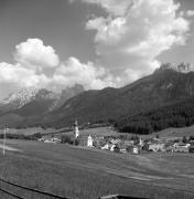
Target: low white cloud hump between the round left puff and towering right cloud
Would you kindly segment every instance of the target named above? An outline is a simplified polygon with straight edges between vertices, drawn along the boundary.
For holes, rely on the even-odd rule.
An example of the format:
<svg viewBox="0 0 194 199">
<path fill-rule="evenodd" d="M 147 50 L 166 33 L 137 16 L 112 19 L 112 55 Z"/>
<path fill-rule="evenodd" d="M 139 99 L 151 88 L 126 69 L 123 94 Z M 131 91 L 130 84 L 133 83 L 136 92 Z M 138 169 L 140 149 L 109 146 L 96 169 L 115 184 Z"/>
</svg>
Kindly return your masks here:
<svg viewBox="0 0 194 199">
<path fill-rule="evenodd" d="M 80 63 L 76 57 L 68 57 L 55 71 L 52 84 L 57 87 L 82 84 L 86 90 L 115 86 L 111 75 L 104 67 L 96 67 L 93 62 Z"/>
</svg>

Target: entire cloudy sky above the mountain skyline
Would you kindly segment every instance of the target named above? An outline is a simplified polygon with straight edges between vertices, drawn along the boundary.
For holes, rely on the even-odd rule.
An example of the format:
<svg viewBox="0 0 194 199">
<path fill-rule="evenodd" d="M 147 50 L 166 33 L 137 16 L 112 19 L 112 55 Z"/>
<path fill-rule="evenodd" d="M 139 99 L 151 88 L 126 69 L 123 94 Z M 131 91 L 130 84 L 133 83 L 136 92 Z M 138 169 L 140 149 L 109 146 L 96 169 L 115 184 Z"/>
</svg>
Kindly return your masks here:
<svg viewBox="0 0 194 199">
<path fill-rule="evenodd" d="M 0 0 L 0 100 L 24 87 L 120 87 L 194 63 L 194 0 Z"/>
</svg>

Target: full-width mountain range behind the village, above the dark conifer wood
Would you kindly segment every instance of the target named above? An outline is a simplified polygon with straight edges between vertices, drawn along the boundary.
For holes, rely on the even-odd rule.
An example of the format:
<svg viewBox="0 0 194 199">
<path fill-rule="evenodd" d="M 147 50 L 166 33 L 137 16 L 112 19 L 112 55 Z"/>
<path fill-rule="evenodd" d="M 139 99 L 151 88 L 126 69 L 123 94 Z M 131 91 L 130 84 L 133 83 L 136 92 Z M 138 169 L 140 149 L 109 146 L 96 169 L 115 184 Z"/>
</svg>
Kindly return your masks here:
<svg viewBox="0 0 194 199">
<path fill-rule="evenodd" d="M 75 85 L 61 95 L 47 90 L 32 90 L 29 94 L 23 90 L 1 102 L 0 124 L 65 126 L 75 118 L 79 123 L 110 122 L 171 106 L 194 97 L 193 69 L 191 64 L 166 63 L 120 88 L 84 92 Z"/>
</svg>

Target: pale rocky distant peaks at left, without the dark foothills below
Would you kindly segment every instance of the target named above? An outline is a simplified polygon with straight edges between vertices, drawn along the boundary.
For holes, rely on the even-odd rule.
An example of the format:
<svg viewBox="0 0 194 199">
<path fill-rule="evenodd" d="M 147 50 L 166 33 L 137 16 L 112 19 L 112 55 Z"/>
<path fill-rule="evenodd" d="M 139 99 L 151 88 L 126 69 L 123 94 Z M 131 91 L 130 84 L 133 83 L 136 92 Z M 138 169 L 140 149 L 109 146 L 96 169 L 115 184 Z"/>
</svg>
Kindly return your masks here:
<svg viewBox="0 0 194 199">
<path fill-rule="evenodd" d="M 42 115 L 58 108 L 65 101 L 83 91 L 82 85 L 67 87 L 61 94 L 46 88 L 23 88 L 0 102 L 0 114 L 15 114 L 21 117 Z"/>
</svg>

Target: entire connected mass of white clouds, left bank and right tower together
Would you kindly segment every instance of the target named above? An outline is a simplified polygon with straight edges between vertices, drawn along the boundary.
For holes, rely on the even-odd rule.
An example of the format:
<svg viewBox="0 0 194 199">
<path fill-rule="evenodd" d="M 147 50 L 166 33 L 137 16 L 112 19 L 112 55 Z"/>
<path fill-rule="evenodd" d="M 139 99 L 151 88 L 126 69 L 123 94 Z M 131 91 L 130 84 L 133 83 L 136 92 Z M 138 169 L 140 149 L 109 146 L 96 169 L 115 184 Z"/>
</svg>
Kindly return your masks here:
<svg viewBox="0 0 194 199">
<path fill-rule="evenodd" d="M 193 11 L 179 12 L 180 3 L 173 0 L 80 1 L 107 13 L 86 22 L 86 30 L 95 31 L 100 65 L 73 56 L 61 62 L 52 46 L 28 39 L 15 46 L 14 64 L 0 63 L 1 94 L 8 87 L 9 92 L 26 86 L 60 91 L 76 83 L 86 90 L 121 86 L 151 73 L 159 67 L 162 52 L 186 42 L 190 22 L 185 18 Z"/>
</svg>

